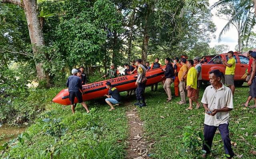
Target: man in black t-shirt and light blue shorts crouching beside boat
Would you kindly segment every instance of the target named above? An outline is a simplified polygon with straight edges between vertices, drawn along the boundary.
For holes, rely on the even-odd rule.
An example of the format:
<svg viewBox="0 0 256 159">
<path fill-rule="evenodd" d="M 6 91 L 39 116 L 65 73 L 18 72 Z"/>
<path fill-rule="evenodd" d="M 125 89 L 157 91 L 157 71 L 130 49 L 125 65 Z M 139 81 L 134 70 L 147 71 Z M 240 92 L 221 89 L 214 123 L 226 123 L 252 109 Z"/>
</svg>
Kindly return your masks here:
<svg viewBox="0 0 256 159">
<path fill-rule="evenodd" d="M 116 87 L 112 87 L 110 82 L 106 82 L 106 88 L 109 90 L 108 90 L 108 95 L 107 94 L 104 95 L 108 97 L 105 99 L 105 101 L 111 107 L 110 110 L 108 111 L 112 111 L 115 109 L 113 104 L 119 106 L 119 104 L 121 103 L 121 96 L 119 94 L 118 89 Z"/>
</svg>

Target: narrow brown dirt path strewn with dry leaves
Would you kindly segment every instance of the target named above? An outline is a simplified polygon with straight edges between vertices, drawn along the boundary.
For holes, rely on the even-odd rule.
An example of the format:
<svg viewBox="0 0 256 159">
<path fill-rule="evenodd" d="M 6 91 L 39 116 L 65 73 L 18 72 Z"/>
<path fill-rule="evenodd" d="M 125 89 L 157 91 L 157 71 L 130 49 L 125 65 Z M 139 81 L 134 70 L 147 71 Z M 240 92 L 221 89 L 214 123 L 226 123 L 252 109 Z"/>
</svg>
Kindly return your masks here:
<svg viewBox="0 0 256 159">
<path fill-rule="evenodd" d="M 127 149 L 126 159 L 148 159 L 148 143 L 147 138 L 142 131 L 143 122 L 137 114 L 136 106 L 129 105 L 126 112 L 128 124 L 130 126 L 130 136 L 128 138 L 129 147 Z M 150 143 L 150 146 L 152 143 Z"/>
</svg>

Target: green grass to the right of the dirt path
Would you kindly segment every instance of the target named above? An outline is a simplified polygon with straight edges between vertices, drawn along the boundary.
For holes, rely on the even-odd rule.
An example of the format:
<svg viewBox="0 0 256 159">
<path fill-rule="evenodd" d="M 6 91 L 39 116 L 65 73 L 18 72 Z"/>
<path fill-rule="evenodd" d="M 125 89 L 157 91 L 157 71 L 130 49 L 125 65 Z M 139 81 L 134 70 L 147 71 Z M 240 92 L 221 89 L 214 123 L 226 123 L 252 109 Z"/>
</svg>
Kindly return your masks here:
<svg viewBox="0 0 256 159">
<path fill-rule="evenodd" d="M 204 89 L 200 90 L 200 99 Z M 179 97 L 166 104 L 167 95 L 162 88 L 158 88 L 158 92 L 149 92 L 149 90 L 147 89 L 146 93 L 147 107 L 139 109 L 139 115 L 145 123 L 146 136 L 150 137 L 149 140 L 156 141 L 151 150 L 152 158 L 190 158 L 189 153 L 186 156 L 180 153 L 180 149 L 183 148 L 182 134 L 185 132 L 185 126 L 193 126 L 203 131 L 204 108 L 187 111 L 185 109 L 188 104 L 181 106 L 176 104 L 180 100 Z M 233 151 L 239 155 L 243 154 L 244 158 L 253 158 L 255 156 L 249 151 L 256 147 L 256 110 L 241 106 L 248 97 L 248 91 L 248 86 L 236 88 L 234 109 L 230 113 L 229 130 L 231 141 L 237 143 L 236 147 L 233 146 Z M 173 88 L 172 93 L 174 93 Z M 254 103 L 251 102 L 251 104 Z M 160 116 L 164 118 L 160 118 Z M 213 154 L 216 157 L 222 157 L 224 154 L 223 142 L 220 140 L 220 133 L 217 133 L 212 146 Z"/>
</svg>

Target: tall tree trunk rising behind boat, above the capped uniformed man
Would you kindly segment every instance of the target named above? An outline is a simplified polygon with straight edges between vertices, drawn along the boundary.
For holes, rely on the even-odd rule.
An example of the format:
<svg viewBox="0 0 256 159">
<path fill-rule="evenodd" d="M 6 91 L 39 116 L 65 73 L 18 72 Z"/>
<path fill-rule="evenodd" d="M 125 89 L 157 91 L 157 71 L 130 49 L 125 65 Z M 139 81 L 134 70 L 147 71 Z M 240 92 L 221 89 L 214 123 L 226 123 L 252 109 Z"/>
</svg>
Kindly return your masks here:
<svg viewBox="0 0 256 159">
<path fill-rule="evenodd" d="M 141 55 L 143 64 L 146 64 L 148 59 L 148 40 L 149 40 L 148 31 L 150 26 L 150 16 L 154 12 L 154 4 L 146 4 L 146 7 L 147 7 L 147 12 L 144 19 L 145 26 L 144 26 L 144 33 L 143 33 L 142 55 Z"/>
</svg>

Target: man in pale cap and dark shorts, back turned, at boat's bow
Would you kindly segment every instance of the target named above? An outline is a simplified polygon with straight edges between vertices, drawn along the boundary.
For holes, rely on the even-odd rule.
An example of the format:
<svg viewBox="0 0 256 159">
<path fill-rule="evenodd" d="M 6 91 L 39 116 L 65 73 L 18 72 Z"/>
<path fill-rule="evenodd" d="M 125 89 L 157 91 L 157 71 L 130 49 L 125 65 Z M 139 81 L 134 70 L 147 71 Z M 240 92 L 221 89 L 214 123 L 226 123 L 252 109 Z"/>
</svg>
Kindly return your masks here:
<svg viewBox="0 0 256 159">
<path fill-rule="evenodd" d="M 82 80 L 80 79 L 80 77 L 77 76 L 77 72 L 78 72 L 77 69 L 72 69 L 71 71 L 72 75 L 68 77 L 68 80 L 66 82 L 66 86 L 68 87 L 68 92 L 69 92 L 68 97 L 71 103 L 71 110 L 72 110 L 72 113 L 74 114 L 75 113 L 74 100 L 76 97 L 78 100 L 78 103 L 81 103 L 82 106 L 86 109 L 86 112 L 89 113 L 90 111 L 88 110 L 87 105 L 83 102 L 82 93 L 81 93 L 81 92 L 84 92 L 82 88 Z"/>
</svg>

